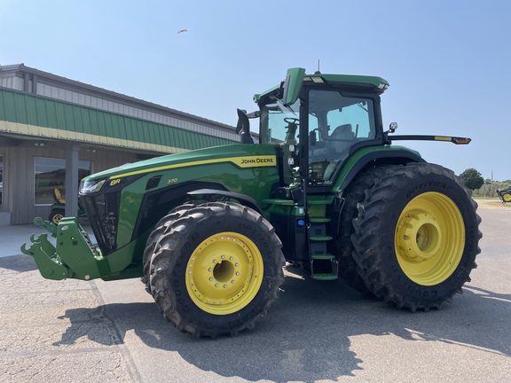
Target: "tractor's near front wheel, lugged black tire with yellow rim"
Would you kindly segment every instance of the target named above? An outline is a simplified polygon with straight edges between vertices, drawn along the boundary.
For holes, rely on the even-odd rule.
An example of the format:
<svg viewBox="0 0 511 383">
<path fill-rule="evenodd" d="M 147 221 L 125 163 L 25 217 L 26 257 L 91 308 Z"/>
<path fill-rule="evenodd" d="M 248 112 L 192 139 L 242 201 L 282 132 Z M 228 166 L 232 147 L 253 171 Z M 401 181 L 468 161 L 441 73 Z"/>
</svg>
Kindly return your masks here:
<svg viewBox="0 0 511 383">
<path fill-rule="evenodd" d="M 284 281 L 282 245 L 271 224 L 232 202 L 192 207 L 169 221 L 149 268 L 163 316 L 195 337 L 254 328 Z"/>
</svg>

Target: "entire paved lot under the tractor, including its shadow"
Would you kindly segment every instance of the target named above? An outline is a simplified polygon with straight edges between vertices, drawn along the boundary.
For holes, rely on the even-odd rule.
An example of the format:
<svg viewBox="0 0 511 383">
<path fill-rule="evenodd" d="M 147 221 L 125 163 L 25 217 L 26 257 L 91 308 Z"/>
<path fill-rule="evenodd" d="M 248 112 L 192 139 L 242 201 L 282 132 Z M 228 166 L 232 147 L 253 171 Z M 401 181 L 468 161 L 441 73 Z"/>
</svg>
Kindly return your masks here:
<svg viewBox="0 0 511 383">
<path fill-rule="evenodd" d="M 509 382 L 511 206 L 478 213 L 478 268 L 443 309 L 392 309 L 288 268 L 269 317 L 217 340 L 177 332 L 138 279 L 43 279 L 16 250 L 41 230 L 0 226 L 0 382 Z"/>
</svg>

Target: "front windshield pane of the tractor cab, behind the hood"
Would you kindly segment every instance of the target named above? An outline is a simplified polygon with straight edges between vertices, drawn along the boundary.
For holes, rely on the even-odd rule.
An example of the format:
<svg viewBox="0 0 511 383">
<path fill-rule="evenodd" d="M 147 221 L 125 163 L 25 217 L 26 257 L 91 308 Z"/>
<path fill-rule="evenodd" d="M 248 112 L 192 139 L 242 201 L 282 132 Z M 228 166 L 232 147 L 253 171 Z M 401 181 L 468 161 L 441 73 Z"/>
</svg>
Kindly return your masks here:
<svg viewBox="0 0 511 383">
<path fill-rule="evenodd" d="M 261 144 L 279 145 L 286 140 L 288 122 L 290 119 L 300 119 L 300 102 L 293 106 L 270 104 L 261 107 L 261 130 L 259 140 Z M 284 121 L 287 119 L 287 121 Z"/>
</svg>

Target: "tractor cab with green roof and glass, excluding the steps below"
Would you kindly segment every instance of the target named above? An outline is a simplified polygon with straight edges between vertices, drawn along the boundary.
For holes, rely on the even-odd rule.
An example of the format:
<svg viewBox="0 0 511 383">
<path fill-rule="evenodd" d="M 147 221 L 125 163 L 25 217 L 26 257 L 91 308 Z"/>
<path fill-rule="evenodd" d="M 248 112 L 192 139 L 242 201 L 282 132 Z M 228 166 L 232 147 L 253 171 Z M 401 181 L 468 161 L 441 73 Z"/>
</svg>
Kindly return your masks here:
<svg viewBox="0 0 511 383">
<path fill-rule="evenodd" d="M 381 145 L 380 77 L 287 71 L 278 87 L 255 95 L 260 144 L 275 145 L 287 186 L 332 187 L 352 152 Z"/>
</svg>

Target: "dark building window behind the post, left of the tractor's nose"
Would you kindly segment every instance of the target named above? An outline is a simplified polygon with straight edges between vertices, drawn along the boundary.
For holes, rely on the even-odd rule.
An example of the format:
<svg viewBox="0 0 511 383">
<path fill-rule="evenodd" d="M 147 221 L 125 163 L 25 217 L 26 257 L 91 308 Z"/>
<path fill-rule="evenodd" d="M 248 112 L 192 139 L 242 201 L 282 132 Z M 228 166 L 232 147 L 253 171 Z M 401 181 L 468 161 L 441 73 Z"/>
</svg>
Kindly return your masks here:
<svg viewBox="0 0 511 383">
<path fill-rule="evenodd" d="M 78 162 L 78 179 L 90 175 L 90 161 Z M 54 190 L 66 193 L 66 160 L 35 157 L 35 205 L 54 202 Z"/>
</svg>

